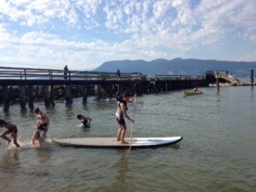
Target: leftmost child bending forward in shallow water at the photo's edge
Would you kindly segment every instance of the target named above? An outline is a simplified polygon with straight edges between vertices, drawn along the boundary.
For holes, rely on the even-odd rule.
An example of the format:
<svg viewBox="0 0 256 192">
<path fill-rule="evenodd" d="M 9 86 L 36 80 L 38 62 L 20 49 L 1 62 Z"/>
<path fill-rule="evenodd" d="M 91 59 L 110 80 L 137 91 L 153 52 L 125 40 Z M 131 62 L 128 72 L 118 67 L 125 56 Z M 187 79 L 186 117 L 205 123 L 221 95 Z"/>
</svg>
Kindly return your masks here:
<svg viewBox="0 0 256 192">
<path fill-rule="evenodd" d="M 5 139 L 8 142 L 7 147 L 9 147 L 9 144 L 12 142 L 12 140 L 9 137 L 7 137 L 7 135 L 11 134 L 11 137 L 14 138 L 14 144 L 16 145 L 17 148 L 20 148 L 20 144 L 17 143 L 17 136 L 18 136 L 17 126 L 13 124 L 9 124 L 5 122 L 5 120 L 0 119 L 0 127 L 4 127 L 7 129 L 6 131 L 3 131 L 0 133 L 0 137 Z"/>
</svg>

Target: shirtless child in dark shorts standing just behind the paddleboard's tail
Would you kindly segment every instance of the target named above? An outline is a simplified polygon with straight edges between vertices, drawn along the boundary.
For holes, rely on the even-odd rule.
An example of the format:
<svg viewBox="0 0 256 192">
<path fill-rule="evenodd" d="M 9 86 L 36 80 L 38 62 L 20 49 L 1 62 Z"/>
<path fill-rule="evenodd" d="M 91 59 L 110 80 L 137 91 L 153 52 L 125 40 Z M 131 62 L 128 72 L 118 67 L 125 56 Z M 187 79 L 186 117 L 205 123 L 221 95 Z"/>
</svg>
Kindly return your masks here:
<svg viewBox="0 0 256 192">
<path fill-rule="evenodd" d="M 49 118 L 45 113 L 41 112 L 39 108 L 35 108 L 34 113 L 38 118 L 35 131 L 38 131 L 39 133 L 42 131 L 42 137 L 46 139 L 46 133 L 49 129 Z"/>
</svg>

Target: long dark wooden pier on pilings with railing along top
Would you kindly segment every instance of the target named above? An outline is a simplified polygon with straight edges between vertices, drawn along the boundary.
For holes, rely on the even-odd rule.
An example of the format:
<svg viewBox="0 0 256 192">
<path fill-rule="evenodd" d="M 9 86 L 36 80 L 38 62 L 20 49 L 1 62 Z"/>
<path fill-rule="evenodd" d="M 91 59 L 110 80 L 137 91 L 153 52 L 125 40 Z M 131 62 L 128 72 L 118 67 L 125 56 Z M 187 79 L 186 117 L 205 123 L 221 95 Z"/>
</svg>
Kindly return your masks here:
<svg viewBox="0 0 256 192">
<path fill-rule="evenodd" d="M 73 97 L 81 96 L 87 102 L 88 96 L 96 99 L 113 98 L 123 91 L 137 95 L 162 91 L 191 89 L 195 86 L 208 86 L 214 77 L 189 75 L 154 75 L 141 73 L 99 73 L 89 71 L 69 71 L 64 79 L 62 70 L 40 68 L 0 67 L 0 104 L 9 108 L 13 101 L 26 108 L 38 99 L 46 105 L 56 99 L 72 102 Z"/>
</svg>

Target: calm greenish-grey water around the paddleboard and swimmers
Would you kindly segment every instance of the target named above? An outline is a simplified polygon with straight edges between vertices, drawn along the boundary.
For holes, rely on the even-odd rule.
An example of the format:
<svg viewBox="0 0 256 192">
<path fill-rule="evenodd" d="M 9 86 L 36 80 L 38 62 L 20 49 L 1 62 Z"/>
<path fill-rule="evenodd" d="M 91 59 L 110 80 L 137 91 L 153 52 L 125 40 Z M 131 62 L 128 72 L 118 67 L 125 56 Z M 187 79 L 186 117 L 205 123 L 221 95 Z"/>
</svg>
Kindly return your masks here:
<svg viewBox="0 0 256 192">
<path fill-rule="evenodd" d="M 54 143 L 33 148 L 37 119 L 32 109 L 20 112 L 14 105 L 4 113 L 1 107 L 0 118 L 18 125 L 22 147 L 6 149 L 1 139 L 0 191 L 254 191 L 256 88 L 226 87 L 219 95 L 216 88 L 203 91 L 186 98 L 183 91 L 138 97 L 137 106 L 129 106 L 136 119 L 134 137 L 183 136 L 183 141 L 131 151 Z M 49 137 L 116 136 L 115 101 L 81 103 L 34 107 L 49 114 Z M 78 113 L 93 119 L 90 131 L 77 127 Z"/>
</svg>

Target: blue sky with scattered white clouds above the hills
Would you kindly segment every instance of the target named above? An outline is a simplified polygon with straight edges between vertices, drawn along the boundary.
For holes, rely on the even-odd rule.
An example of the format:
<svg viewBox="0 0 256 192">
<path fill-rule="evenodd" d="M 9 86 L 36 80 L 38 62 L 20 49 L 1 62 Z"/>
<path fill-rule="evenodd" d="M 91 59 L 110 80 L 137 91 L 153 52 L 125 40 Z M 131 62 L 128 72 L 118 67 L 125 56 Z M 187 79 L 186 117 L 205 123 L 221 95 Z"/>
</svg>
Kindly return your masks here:
<svg viewBox="0 0 256 192">
<path fill-rule="evenodd" d="M 255 0 L 0 0 L 0 67 L 256 61 Z"/>
</svg>

